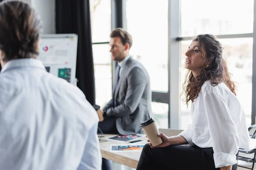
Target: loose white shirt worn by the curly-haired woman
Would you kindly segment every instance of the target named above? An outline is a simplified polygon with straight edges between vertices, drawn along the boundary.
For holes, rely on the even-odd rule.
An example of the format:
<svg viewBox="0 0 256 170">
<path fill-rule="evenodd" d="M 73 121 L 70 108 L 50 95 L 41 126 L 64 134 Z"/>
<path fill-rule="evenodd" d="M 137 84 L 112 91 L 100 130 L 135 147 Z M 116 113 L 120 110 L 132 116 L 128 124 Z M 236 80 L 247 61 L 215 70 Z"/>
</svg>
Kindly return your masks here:
<svg viewBox="0 0 256 170">
<path fill-rule="evenodd" d="M 216 168 L 236 164 L 239 147 L 250 150 L 244 111 L 224 83 L 204 83 L 192 102 L 191 117 L 192 124 L 180 135 L 189 144 L 212 147 Z"/>
</svg>

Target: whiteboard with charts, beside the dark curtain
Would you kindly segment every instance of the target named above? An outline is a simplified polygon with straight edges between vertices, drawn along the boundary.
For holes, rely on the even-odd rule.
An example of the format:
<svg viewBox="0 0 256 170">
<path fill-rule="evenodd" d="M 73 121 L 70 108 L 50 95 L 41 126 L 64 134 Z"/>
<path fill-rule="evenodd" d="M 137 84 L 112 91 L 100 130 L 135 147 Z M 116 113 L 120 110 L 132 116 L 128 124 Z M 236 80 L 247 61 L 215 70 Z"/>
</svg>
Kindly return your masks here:
<svg viewBox="0 0 256 170">
<path fill-rule="evenodd" d="M 76 85 L 76 34 L 44 34 L 41 37 L 38 59 L 46 70 Z"/>
</svg>

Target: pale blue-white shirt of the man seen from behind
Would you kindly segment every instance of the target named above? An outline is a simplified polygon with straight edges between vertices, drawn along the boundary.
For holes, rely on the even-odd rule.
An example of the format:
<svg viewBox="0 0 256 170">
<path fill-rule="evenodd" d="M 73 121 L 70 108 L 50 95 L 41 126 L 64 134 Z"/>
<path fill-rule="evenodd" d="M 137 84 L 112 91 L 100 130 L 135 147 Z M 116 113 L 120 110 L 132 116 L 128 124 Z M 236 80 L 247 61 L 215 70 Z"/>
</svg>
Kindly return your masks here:
<svg viewBox="0 0 256 170">
<path fill-rule="evenodd" d="M 99 118 L 76 86 L 38 59 L 0 72 L 1 170 L 100 170 Z"/>
</svg>

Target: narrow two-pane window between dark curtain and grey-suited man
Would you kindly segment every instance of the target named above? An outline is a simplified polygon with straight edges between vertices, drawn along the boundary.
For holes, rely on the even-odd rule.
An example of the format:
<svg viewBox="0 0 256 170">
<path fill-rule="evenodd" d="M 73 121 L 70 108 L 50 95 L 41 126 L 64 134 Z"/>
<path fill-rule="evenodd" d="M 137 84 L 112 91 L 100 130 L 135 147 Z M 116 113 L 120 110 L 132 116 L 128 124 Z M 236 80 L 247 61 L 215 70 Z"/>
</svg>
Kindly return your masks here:
<svg viewBox="0 0 256 170">
<path fill-rule="evenodd" d="M 111 0 L 90 0 L 90 15 L 96 104 L 102 108 L 112 98 L 112 66 L 108 45 L 111 34 Z"/>
</svg>

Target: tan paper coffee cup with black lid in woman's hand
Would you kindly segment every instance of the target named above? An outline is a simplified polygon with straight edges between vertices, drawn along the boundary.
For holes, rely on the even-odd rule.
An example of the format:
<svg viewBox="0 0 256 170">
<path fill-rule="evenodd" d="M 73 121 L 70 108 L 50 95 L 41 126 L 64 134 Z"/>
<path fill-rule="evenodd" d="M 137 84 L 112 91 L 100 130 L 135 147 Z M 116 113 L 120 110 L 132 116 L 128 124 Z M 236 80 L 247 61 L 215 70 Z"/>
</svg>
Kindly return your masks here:
<svg viewBox="0 0 256 170">
<path fill-rule="evenodd" d="M 162 139 L 157 136 L 159 131 L 157 129 L 155 119 L 149 118 L 148 120 L 142 122 L 140 124 L 140 127 L 142 127 L 142 129 L 144 130 L 152 146 L 157 146 L 158 144 L 163 143 Z"/>
</svg>

